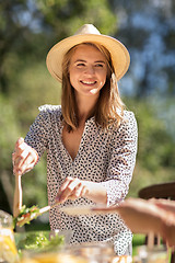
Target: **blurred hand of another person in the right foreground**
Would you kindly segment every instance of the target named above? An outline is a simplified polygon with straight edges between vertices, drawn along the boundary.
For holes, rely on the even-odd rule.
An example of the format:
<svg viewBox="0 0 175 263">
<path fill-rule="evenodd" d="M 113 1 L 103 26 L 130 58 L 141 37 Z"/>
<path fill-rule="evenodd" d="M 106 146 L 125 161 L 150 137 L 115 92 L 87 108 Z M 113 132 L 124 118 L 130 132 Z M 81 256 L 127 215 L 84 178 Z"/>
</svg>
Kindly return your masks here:
<svg viewBox="0 0 175 263">
<path fill-rule="evenodd" d="M 118 214 L 138 233 L 161 235 L 170 247 L 175 245 L 174 201 L 128 198 L 118 206 Z"/>
</svg>

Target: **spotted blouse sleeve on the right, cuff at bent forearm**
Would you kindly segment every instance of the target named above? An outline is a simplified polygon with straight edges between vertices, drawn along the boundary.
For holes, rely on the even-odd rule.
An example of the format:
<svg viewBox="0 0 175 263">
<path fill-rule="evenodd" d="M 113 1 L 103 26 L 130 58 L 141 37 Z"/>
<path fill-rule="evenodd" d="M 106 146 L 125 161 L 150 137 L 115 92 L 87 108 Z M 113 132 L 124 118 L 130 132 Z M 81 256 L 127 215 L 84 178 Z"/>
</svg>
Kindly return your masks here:
<svg viewBox="0 0 175 263">
<path fill-rule="evenodd" d="M 126 112 L 113 137 L 113 152 L 108 165 L 107 178 L 102 185 L 107 192 L 107 205 L 121 202 L 129 190 L 129 183 L 136 164 L 138 128 L 132 112 Z"/>
</svg>

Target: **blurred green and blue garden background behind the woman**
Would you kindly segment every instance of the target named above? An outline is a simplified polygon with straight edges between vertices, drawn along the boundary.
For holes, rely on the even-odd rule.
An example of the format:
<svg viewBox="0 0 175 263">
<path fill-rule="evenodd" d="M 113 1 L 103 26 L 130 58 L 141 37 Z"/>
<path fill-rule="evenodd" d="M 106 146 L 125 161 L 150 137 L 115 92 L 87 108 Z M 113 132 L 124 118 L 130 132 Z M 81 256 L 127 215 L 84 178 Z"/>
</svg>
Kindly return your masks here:
<svg viewBox="0 0 175 263">
<path fill-rule="evenodd" d="M 0 209 L 10 214 L 14 144 L 25 137 L 39 105 L 60 104 L 60 85 L 46 68 L 47 53 L 84 23 L 121 41 L 131 56 L 118 83 L 139 128 L 128 196 L 175 181 L 175 1 L 0 0 Z M 27 206 L 47 205 L 45 160 L 22 178 Z"/>
</svg>

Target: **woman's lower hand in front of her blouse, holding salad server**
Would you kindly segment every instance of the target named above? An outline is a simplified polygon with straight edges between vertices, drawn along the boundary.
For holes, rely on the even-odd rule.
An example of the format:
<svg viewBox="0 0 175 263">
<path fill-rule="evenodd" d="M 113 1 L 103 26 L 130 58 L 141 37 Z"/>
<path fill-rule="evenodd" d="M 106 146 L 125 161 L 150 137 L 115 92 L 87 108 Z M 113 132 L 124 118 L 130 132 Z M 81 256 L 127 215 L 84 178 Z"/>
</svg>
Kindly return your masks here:
<svg viewBox="0 0 175 263">
<path fill-rule="evenodd" d="M 63 203 L 67 199 L 77 199 L 83 197 L 88 192 L 84 181 L 68 176 L 58 191 L 56 202 Z"/>
</svg>

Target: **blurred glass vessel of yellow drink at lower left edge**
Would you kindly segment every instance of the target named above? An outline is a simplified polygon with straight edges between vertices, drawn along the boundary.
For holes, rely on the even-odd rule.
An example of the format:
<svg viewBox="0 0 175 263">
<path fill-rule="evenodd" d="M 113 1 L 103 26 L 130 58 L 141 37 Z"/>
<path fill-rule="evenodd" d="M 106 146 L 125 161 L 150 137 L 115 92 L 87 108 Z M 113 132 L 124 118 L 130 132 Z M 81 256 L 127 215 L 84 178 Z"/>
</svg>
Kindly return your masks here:
<svg viewBox="0 0 175 263">
<path fill-rule="evenodd" d="M 0 210 L 0 262 L 19 262 L 13 235 L 13 218 L 3 210 Z"/>
</svg>

